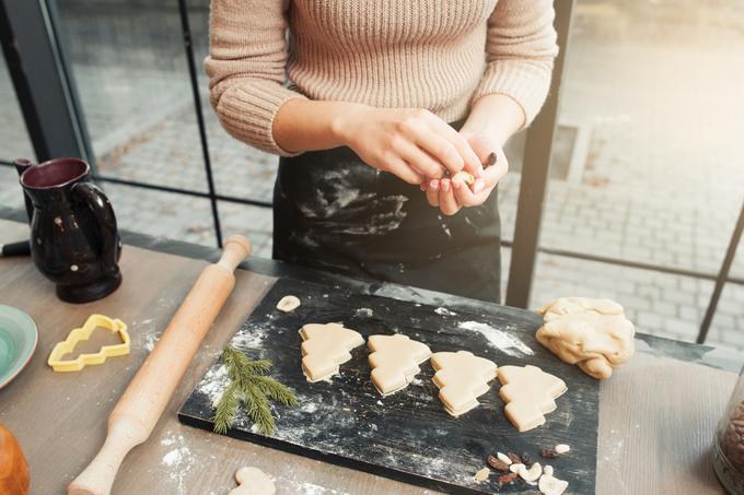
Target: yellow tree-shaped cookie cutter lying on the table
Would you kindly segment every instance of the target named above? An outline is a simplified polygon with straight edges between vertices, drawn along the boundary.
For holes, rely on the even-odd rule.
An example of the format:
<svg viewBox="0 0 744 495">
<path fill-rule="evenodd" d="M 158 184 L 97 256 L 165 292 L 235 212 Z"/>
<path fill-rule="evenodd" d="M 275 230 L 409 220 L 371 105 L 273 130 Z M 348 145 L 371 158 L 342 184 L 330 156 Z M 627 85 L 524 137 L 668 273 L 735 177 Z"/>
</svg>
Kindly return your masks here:
<svg viewBox="0 0 744 495">
<path fill-rule="evenodd" d="M 65 354 L 71 353 L 78 342 L 91 338 L 93 331 L 103 327 L 118 333 L 121 338 L 120 344 L 104 345 L 94 354 L 80 354 L 75 360 L 61 360 Z M 85 366 L 93 364 L 102 364 L 106 357 L 124 356 L 129 354 L 129 333 L 127 333 L 127 325 L 120 319 L 112 319 L 103 315 L 91 315 L 85 320 L 82 328 L 75 328 L 61 342 L 57 342 L 55 349 L 49 354 L 47 364 L 51 366 L 55 372 L 80 372 Z"/>
</svg>

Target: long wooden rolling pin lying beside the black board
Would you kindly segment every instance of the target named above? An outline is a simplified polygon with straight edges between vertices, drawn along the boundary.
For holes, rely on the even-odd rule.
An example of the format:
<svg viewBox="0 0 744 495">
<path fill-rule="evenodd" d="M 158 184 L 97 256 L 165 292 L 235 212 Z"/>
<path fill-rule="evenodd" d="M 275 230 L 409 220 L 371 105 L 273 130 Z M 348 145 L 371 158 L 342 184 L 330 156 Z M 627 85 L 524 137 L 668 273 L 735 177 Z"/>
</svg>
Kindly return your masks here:
<svg viewBox="0 0 744 495">
<path fill-rule="evenodd" d="M 103 447 L 67 488 L 68 495 L 106 495 L 125 456 L 148 439 L 186 368 L 235 285 L 235 268 L 251 254 L 230 236 L 220 261 L 204 269 L 181 307 L 108 415 Z"/>
</svg>

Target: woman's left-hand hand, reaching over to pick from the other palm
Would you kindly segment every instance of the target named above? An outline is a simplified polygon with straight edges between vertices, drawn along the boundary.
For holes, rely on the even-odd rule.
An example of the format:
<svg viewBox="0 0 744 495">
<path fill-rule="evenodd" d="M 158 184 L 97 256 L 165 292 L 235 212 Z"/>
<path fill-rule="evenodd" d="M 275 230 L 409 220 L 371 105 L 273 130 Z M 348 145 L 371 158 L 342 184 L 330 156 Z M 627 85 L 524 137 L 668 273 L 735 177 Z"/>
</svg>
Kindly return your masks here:
<svg viewBox="0 0 744 495">
<path fill-rule="evenodd" d="M 334 119 L 333 132 L 368 165 L 420 185 L 466 170 L 484 174 L 470 143 L 429 110 L 353 105 Z"/>
</svg>

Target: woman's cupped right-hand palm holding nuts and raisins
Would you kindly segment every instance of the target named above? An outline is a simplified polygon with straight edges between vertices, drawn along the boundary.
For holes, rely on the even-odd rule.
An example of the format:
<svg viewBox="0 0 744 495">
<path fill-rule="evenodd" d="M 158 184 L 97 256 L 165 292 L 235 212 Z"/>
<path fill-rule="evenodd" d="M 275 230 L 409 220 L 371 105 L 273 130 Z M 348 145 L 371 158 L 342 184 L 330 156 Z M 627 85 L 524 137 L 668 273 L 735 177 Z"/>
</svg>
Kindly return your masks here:
<svg viewBox="0 0 744 495">
<path fill-rule="evenodd" d="M 496 163 L 486 167 L 483 176 L 476 177 L 470 186 L 462 180 L 450 178 L 430 179 L 421 185 L 421 189 L 427 192 L 429 204 L 439 207 L 445 215 L 454 215 L 463 207 L 483 204 L 499 180 L 509 172 L 509 162 L 507 155 L 503 154 L 500 140 L 486 134 L 463 134 L 463 138 L 481 163 L 488 161 L 490 153 L 496 154 Z"/>
</svg>

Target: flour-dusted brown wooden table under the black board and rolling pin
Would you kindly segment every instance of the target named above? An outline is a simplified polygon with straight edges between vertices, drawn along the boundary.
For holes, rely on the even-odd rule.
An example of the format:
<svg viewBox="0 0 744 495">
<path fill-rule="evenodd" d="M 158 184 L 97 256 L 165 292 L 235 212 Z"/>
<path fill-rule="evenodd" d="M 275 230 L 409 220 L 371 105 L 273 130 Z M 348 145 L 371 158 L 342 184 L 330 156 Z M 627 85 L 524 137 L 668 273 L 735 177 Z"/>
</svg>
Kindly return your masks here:
<svg viewBox="0 0 744 495">
<path fill-rule="evenodd" d="M 9 216 L 0 210 L 0 215 L 3 213 Z M 16 240 L 25 233 L 25 225 L 0 220 L 0 243 Z M 39 329 L 38 350 L 28 367 L 0 390 L 0 422 L 16 435 L 25 451 L 32 494 L 65 493 L 70 480 L 97 452 L 106 417 L 121 391 L 205 267 L 205 259 L 218 255 L 212 249 L 139 235 L 125 233 L 124 238 L 128 244 L 121 259 L 124 284 L 107 298 L 85 305 L 57 299 L 51 284 L 28 258 L 0 259 L 0 304 L 28 313 Z M 282 494 L 431 493 L 178 423 L 178 406 L 275 282 L 271 273 L 328 276 L 272 261 L 251 260 L 245 268 L 236 273 L 235 291 L 152 436 L 124 461 L 114 493 L 224 494 L 234 486 L 233 474 L 242 465 L 270 473 Z M 398 286 L 379 292 L 423 302 L 437 297 Z M 479 305 L 461 298 L 447 300 Z M 131 354 L 80 373 L 53 373 L 46 365 L 51 347 L 93 313 L 129 325 Z M 648 335 L 639 335 L 638 351 L 601 387 L 597 493 L 723 493 L 710 465 L 709 449 L 743 356 Z"/>
</svg>

